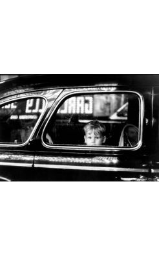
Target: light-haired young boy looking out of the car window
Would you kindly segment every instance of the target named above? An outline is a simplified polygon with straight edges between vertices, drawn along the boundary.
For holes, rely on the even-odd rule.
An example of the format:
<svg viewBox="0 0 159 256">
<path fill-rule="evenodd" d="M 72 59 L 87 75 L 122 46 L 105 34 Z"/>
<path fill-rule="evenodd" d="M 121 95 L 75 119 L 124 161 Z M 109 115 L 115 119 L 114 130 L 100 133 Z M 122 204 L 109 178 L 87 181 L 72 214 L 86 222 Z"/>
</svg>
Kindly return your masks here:
<svg viewBox="0 0 159 256">
<path fill-rule="evenodd" d="M 87 146 L 101 146 L 106 141 L 105 126 L 98 121 L 88 122 L 84 126 L 85 144 Z"/>
</svg>

